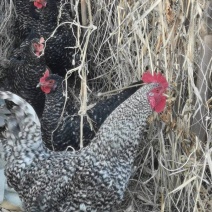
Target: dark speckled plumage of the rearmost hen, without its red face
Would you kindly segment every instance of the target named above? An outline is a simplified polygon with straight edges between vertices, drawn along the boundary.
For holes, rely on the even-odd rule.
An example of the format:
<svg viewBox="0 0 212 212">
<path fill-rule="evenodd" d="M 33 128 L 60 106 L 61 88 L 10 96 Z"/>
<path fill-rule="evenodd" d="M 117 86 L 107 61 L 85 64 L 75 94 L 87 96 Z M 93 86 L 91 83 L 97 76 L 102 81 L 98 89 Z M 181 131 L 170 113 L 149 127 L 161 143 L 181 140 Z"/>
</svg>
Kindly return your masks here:
<svg viewBox="0 0 212 212">
<path fill-rule="evenodd" d="M 34 0 L 36 2 L 36 0 Z M 46 40 L 45 59 L 52 72 L 61 76 L 79 61 L 76 48 L 77 27 L 70 12 L 70 2 L 45 0 L 46 6 L 37 9 L 34 2 L 16 0 L 17 19 L 15 25 L 16 47 L 32 32 Z M 61 5 L 63 5 L 61 7 Z M 66 24 L 64 24 L 66 22 Z M 61 24 L 61 26 L 59 26 Z M 56 30 L 57 29 L 57 30 Z M 55 30 L 55 32 L 54 32 Z M 52 35 L 52 33 L 54 34 Z"/>
</svg>

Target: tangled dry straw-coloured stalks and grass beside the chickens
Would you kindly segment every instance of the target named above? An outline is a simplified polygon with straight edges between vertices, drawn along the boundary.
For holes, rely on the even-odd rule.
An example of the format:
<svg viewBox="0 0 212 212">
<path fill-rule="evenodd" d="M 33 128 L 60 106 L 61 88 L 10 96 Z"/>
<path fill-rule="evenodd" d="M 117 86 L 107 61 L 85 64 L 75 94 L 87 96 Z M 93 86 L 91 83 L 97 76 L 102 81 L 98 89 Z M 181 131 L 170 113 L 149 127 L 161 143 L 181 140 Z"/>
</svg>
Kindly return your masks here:
<svg viewBox="0 0 212 212">
<path fill-rule="evenodd" d="M 89 92 L 110 95 L 146 69 L 163 71 L 172 88 L 166 111 L 149 119 L 135 173 L 115 211 L 212 211 L 212 4 L 81 2 L 87 16 L 84 26 L 75 24 L 83 35 L 82 64 L 69 74 L 78 71 L 82 77 L 82 108 Z M 0 4 L 0 54 L 8 56 L 15 13 L 12 0 Z M 88 71 L 94 78 L 87 82 Z"/>
</svg>

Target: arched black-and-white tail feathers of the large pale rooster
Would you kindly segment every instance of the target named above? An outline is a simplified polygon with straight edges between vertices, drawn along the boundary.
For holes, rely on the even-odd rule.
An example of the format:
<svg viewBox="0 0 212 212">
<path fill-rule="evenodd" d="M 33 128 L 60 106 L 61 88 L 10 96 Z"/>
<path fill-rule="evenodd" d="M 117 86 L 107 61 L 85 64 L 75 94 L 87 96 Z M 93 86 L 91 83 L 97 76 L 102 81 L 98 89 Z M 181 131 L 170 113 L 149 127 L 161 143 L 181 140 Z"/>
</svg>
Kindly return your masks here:
<svg viewBox="0 0 212 212">
<path fill-rule="evenodd" d="M 7 172 L 11 171 L 10 174 L 16 179 L 13 181 L 17 184 L 22 171 L 31 165 L 34 158 L 45 158 L 48 151 L 43 147 L 40 122 L 32 106 L 11 92 L 0 91 L 0 98 L 17 104 L 11 109 L 12 114 L 7 119 L 7 140 L 3 142 Z M 18 173 L 15 172 L 16 167 Z"/>
</svg>

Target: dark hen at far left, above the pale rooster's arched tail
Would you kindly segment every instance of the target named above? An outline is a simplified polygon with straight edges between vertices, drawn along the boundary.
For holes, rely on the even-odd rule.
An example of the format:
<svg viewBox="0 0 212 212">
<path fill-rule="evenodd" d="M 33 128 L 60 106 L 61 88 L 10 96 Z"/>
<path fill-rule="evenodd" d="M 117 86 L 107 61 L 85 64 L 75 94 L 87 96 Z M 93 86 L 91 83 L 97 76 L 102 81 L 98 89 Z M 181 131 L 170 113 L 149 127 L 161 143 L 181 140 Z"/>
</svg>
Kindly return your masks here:
<svg viewBox="0 0 212 212">
<path fill-rule="evenodd" d="M 8 67 L 4 70 L 5 90 L 18 94 L 29 102 L 40 117 L 45 95 L 36 88 L 37 82 L 46 70 L 43 52 L 44 39 L 31 33 L 21 47 L 13 53 Z"/>
</svg>

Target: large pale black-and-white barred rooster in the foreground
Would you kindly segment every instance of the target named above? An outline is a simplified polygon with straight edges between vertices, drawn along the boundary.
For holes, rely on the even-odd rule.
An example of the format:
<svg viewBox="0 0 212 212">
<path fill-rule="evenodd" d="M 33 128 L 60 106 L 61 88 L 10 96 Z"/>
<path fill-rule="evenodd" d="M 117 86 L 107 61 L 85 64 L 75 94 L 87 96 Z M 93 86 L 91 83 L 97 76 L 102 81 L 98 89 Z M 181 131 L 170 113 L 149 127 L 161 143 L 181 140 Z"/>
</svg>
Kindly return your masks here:
<svg viewBox="0 0 212 212">
<path fill-rule="evenodd" d="M 15 94 L 0 92 L 0 98 L 17 105 L 7 120 L 3 147 L 8 183 L 26 212 L 111 211 L 122 200 L 147 118 L 166 104 L 166 79 L 145 73 L 143 81 L 147 85 L 110 114 L 90 145 L 75 152 L 47 150 L 33 108 Z"/>
</svg>

